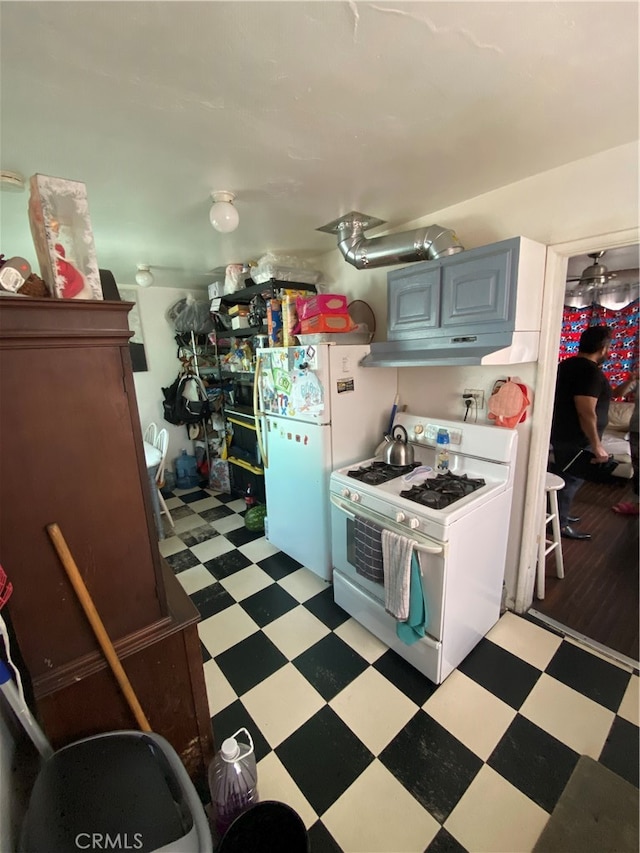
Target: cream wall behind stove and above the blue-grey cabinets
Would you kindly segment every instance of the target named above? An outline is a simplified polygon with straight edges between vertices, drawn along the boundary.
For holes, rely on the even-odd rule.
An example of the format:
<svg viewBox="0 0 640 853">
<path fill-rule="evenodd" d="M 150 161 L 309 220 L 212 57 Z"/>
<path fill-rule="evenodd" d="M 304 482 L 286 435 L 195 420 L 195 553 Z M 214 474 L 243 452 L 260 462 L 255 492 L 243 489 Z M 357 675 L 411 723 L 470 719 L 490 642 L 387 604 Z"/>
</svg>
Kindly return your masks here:
<svg viewBox="0 0 640 853">
<path fill-rule="evenodd" d="M 551 245 L 635 228 L 638 225 L 638 154 L 637 143 L 623 145 L 434 211 L 394 230 L 409 231 L 437 224 L 453 228 L 465 248 L 471 249 L 518 235 Z M 366 212 L 384 216 L 384 208 Z M 350 301 L 364 299 L 371 305 L 377 321 L 375 340 L 384 340 L 386 277 L 395 267 L 356 270 L 337 249 L 322 255 L 316 263 L 326 272 L 331 290 L 347 294 Z M 564 288 L 563 283 L 560 286 Z M 546 357 L 555 358 L 555 353 L 549 352 Z M 514 365 L 509 372 L 499 367 L 401 368 L 398 371 L 400 403 L 420 414 L 461 419 L 460 392 L 463 388 L 484 389 L 486 395 L 495 380 L 506 375 L 521 377 L 535 391 L 537 368 L 534 364 Z M 515 600 L 529 446 L 535 428 L 534 397 L 530 417 L 518 428 L 519 455 L 506 567 L 509 606 L 513 606 Z"/>
</svg>

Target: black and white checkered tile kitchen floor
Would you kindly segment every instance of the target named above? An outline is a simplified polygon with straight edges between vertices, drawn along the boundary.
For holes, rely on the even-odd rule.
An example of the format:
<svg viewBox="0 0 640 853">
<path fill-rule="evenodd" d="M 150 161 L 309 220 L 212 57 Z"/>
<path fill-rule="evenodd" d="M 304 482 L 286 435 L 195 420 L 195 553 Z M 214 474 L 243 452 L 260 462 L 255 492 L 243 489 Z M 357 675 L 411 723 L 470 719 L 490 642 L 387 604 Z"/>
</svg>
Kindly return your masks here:
<svg viewBox="0 0 640 853">
<path fill-rule="evenodd" d="M 216 742 L 251 731 L 261 799 L 313 853 L 529 851 L 582 754 L 638 786 L 637 673 L 507 613 L 436 687 L 248 531 L 242 500 L 165 494 Z"/>
</svg>

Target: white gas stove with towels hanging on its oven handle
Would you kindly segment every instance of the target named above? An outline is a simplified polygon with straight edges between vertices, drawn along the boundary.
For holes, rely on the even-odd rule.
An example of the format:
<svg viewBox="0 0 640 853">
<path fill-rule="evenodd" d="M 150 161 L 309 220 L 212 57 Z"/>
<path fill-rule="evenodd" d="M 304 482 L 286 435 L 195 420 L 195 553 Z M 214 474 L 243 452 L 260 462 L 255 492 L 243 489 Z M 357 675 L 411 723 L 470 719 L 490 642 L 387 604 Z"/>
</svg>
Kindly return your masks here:
<svg viewBox="0 0 640 853">
<path fill-rule="evenodd" d="M 500 616 L 517 433 L 408 413 L 399 414 L 395 423 L 407 430 L 415 462 L 432 470 L 390 472 L 391 479 L 376 484 L 366 482 L 367 476 L 377 479 L 375 471 L 370 475 L 357 471 L 369 469 L 374 460 L 367 459 L 332 473 L 334 596 L 358 622 L 440 684 Z M 435 471 L 436 435 L 442 427 L 449 432 L 454 475 L 446 478 L 438 478 Z M 443 496 L 429 486 L 460 488 L 469 494 Z M 453 497 L 453 502 L 439 509 L 401 495 L 412 488 L 422 500 L 437 504 Z M 419 553 L 428 622 L 427 636 L 413 645 L 396 634 L 396 620 L 385 610 L 383 583 L 356 569 L 357 519 L 408 537 Z"/>
</svg>

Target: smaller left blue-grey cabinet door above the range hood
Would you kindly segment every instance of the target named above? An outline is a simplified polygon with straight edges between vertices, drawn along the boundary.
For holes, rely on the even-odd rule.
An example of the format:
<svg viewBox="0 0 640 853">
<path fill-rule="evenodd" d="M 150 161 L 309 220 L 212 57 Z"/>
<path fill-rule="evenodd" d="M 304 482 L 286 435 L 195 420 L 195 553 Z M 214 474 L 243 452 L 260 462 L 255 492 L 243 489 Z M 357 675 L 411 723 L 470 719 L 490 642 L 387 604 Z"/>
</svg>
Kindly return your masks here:
<svg viewBox="0 0 640 853">
<path fill-rule="evenodd" d="M 388 276 L 389 340 L 421 337 L 440 324 L 440 264 L 419 264 Z"/>
</svg>

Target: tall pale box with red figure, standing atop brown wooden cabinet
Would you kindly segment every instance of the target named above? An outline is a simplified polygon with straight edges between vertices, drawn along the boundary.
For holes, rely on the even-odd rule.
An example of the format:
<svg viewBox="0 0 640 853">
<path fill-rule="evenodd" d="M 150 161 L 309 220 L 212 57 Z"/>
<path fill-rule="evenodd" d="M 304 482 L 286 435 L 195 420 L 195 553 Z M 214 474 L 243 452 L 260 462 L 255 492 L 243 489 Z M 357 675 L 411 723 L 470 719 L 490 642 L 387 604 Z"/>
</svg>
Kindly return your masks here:
<svg viewBox="0 0 640 853">
<path fill-rule="evenodd" d="M 52 296 L 102 299 L 85 185 L 36 174 L 30 187 L 31 235 Z"/>
</svg>

